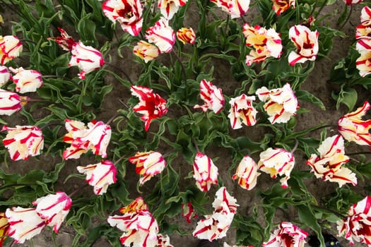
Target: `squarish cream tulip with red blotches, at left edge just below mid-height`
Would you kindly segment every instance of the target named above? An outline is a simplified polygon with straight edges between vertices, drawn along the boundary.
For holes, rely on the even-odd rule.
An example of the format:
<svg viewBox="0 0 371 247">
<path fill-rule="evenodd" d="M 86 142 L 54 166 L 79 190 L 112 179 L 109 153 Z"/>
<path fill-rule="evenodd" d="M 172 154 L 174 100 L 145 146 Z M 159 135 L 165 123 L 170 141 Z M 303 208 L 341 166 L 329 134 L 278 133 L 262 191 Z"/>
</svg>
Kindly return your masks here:
<svg viewBox="0 0 371 247">
<path fill-rule="evenodd" d="M 3 143 L 13 160 L 40 155 L 40 150 L 44 147 L 44 136 L 37 126 L 3 126 L 1 131 L 8 131 Z"/>
</svg>

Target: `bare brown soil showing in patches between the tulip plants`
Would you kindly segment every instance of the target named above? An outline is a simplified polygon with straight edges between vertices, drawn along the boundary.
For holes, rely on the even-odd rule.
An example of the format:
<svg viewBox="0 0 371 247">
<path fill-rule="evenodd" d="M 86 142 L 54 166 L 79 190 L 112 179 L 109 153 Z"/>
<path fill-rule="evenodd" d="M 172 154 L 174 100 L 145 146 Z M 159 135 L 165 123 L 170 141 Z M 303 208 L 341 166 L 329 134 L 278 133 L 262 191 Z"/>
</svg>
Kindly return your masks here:
<svg viewBox="0 0 371 247">
<path fill-rule="evenodd" d="M 194 3 L 192 3 L 194 4 Z M 334 6 L 328 6 L 324 8 L 323 15 L 326 15 L 326 13 L 332 13 L 336 8 L 341 8 L 343 6 L 343 1 L 338 1 L 336 4 L 336 7 Z M 343 32 L 346 32 L 347 37 L 344 38 L 336 38 L 334 40 L 334 49 L 333 52 L 331 52 L 328 57 L 317 59 L 315 61 L 315 68 L 314 71 L 311 73 L 310 77 L 307 78 L 305 83 L 302 85 L 302 90 L 307 90 L 311 92 L 312 94 L 319 97 L 320 100 L 324 103 L 326 107 L 326 111 L 323 111 L 319 109 L 318 107 L 314 106 L 313 104 L 310 104 L 308 102 L 300 101 L 300 108 L 302 109 L 309 109 L 310 112 L 307 112 L 305 114 L 298 114 L 298 116 L 295 116 L 298 122 L 298 126 L 296 127 L 298 130 L 307 128 L 308 126 L 316 126 L 318 123 L 330 123 L 330 124 L 336 124 L 338 121 L 338 118 L 341 117 L 343 114 L 348 112 L 348 109 L 341 105 L 340 109 L 336 110 L 335 102 L 331 98 L 331 92 L 335 89 L 334 85 L 331 85 L 331 83 L 328 83 L 329 80 L 329 71 L 331 69 L 332 64 L 334 62 L 341 58 L 346 56 L 347 49 L 353 42 L 353 37 L 355 35 L 355 26 L 359 23 L 359 16 L 360 16 L 360 9 L 361 6 L 354 6 L 353 13 L 351 15 L 350 20 L 345 25 Z M 191 8 L 195 8 L 195 6 L 192 6 Z M 218 12 L 219 15 L 226 17 L 225 13 L 222 13 L 221 11 Z M 14 14 L 11 12 L 7 13 L 1 13 L 1 15 L 4 18 L 5 23 L 8 23 L 10 20 L 13 20 Z M 257 15 L 256 6 L 252 7 L 249 12 L 245 15 L 245 20 L 251 21 L 253 20 Z M 187 26 L 192 26 L 195 31 L 196 30 L 196 23 L 198 20 L 194 19 L 192 16 L 187 16 L 185 19 L 185 23 Z M 336 20 L 334 18 L 331 18 L 329 20 L 329 25 L 332 27 L 336 26 Z M 3 35 L 6 35 L 5 32 L 10 33 L 10 30 L 4 25 L 3 28 Z M 117 34 L 121 35 L 119 28 L 117 28 Z M 114 51 L 114 49 L 112 49 Z M 111 54 L 112 61 L 110 61 L 110 64 L 117 64 L 121 66 L 123 65 L 124 70 L 126 73 L 129 74 L 129 77 L 132 81 L 137 81 L 139 79 L 139 75 L 141 73 L 141 68 L 139 65 L 132 63 L 132 52 L 129 49 L 124 49 L 124 61 L 119 58 L 116 54 Z M 160 59 L 166 59 L 166 54 L 162 55 L 163 58 L 160 57 Z M 218 87 L 221 87 L 223 89 L 223 92 L 227 95 L 232 95 L 234 92 L 235 87 L 239 85 L 239 82 L 235 81 L 232 76 L 230 75 L 230 67 L 229 64 L 220 63 L 219 61 L 213 61 L 213 66 L 215 66 L 215 73 L 214 73 L 214 80 L 213 84 L 217 85 Z M 110 68 L 113 71 L 117 72 L 118 74 L 122 74 L 121 71 L 119 71 L 118 68 Z M 123 75 L 122 75 L 123 76 Z M 124 76 L 123 76 L 124 77 Z M 109 95 L 105 98 L 105 101 L 102 104 L 102 111 L 100 114 L 98 114 L 97 119 L 101 121 L 107 121 L 108 119 L 113 116 L 118 109 L 122 108 L 122 104 L 119 104 L 118 100 L 127 100 L 129 97 L 131 97 L 129 89 L 125 88 L 122 84 L 117 82 L 116 79 L 114 79 L 112 76 L 107 75 L 106 83 L 111 84 L 114 87 L 114 90 L 110 92 Z M 356 106 L 360 106 L 363 104 L 365 100 L 371 100 L 370 92 L 365 92 L 365 90 L 362 90 L 361 88 L 357 88 L 359 92 L 359 97 Z M 370 116 L 370 115 L 368 115 Z M 368 117 L 370 119 L 370 117 Z M 8 122 L 9 126 L 13 125 L 24 125 L 25 119 L 20 116 L 19 114 L 14 114 L 11 117 L 4 117 L 4 120 Z M 151 126 L 151 128 L 156 128 L 156 126 Z M 252 138 L 252 140 L 259 140 L 259 136 L 261 136 L 264 131 L 266 131 L 264 128 L 257 128 L 257 127 L 244 127 L 242 130 L 235 131 L 235 135 L 247 135 Z M 232 133 L 232 130 L 231 130 Z M 331 133 L 336 133 L 336 128 L 329 128 L 328 129 L 328 135 L 331 136 Z M 315 137 L 318 137 L 318 132 L 313 133 Z M 357 150 L 357 152 L 361 151 L 368 151 L 369 149 L 364 146 L 359 145 L 348 145 L 347 152 L 353 152 L 354 150 Z M 273 186 L 276 181 L 271 179 L 266 174 L 261 174 L 258 179 L 258 185 L 256 188 L 254 188 L 252 191 L 246 191 L 240 186 L 237 185 L 232 179 L 230 179 L 230 171 L 228 171 L 228 168 L 230 164 L 232 164 L 231 157 L 229 155 L 228 150 L 223 150 L 221 147 L 214 147 L 210 150 L 207 150 L 207 155 L 211 157 L 215 164 L 218 166 L 219 173 L 221 179 L 224 181 L 225 186 L 228 188 L 228 191 L 231 195 L 233 195 L 235 198 L 237 198 L 237 203 L 240 205 L 238 207 L 239 212 L 241 212 L 243 215 L 249 215 L 252 213 L 252 208 L 255 204 L 259 204 L 259 195 L 257 195 L 258 191 L 265 191 L 270 186 Z M 259 159 L 257 156 L 253 156 L 255 160 Z M 368 159 L 370 159 L 370 155 L 367 156 Z M 66 176 L 68 176 L 71 173 L 76 173 L 76 166 L 81 164 L 88 164 L 90 160 L 88 160 L 88 157 L 83 157 L 82 159 L 78 160 L 71 160 L 66 162 L 66 166 L 61 171 L 61 180 L 63 181 Z M 296 168 L 295 169 L 302 169 L 305 168 L 305 155 L 302 153 L 295 153 L 295 160 L 296 160 Z M 20 173 L 25 174 L 26 172 L 32 170 L 32 169 L 45 169 L 47 171 L 50 171 L 53 169 L 54 164 L 57 164 L 60 162 L 60 157 L 47 157 L 45 155 L 40 155 L 40 160 L 38 159 L 29 159 L 27 161 L 21 161 L 21 162 L 9 162 L 9 166 L 6 167 L 4 164 L 1 166 L 6 173 Z M 187 166 L 183 166 L 187 167 Z M 191 166 L 188 166 L 187 169 L 191 169 Z M 130 185 L 130 196 L 132 199 L 136 198 L 136 195 L 139 195 L 139 193 L 136 191 L 136 181 L 138 179 L 138 176 L 135 174 L 133 169 L 128 169 L 128 174 L 126 174 L 126 178 L 128 179 L 129 185 Z M 182 171 L 182 173 L 187 174 L 188 171 Z M 133 179 L 133 181 L 129 181 L 129 179 Z M 363 183 L 368 183 L 369 181 L 364 181 Z M 189 179 L 181 179 L 181 186 L 187 185 L 187 183 L 190 183 Z M 305 181 L 307 184 L 310 192 L 320 200 L 324 195 L 331 193 L 336 189 L 336 185 L 333 183 L 321 181 L 319 179 L 308 179 Z M 74 180 L 71 179 L 69 183 L 62 184 L 59 183 L 59 186 L 64 191 L 74 191 L 76 187 L 82 186 L 81 180 Z M 149 187 L 149 186 L 148 186 Z M 148 188 L 150 189 L 150 188 Z M 143 189 L 143 193 L 146 193 L 146 189 Z M 210 198 L 213 198 L 215 195 L 216 189 L 213 188 L 211 191 L 208 191 L 207 195 Z M 86 193 L 91 193 L 88 190 Z M 294 212 L 295 213 L 295 212 Z M 291 217 L 295 215 L 290 215 Z M 199 217 L 199 219 L 202 219 L 202 216 Z M 188 224 L 187 222 L 182 219 L 182 217 L 175 217 L 175 219 L 172 219 L 173 222 L 177 222 L 179 224 L 180 229 L 182 231 L 189 232 L 188 236 L 180 236 L 179 234 L 173 234 L 170 236 L 170 241 L 173 246 L 179 247 L 192 247 L 196 246 L 196 243 L 198 242 L 197 239 L 195 239 L 192 236 L 192 231 L 196 227 L 196 219 L 192 220 L 192 224 Z M 275 223 L 281 222 L 281 221 L 288 221 L 288 215 L 285 214 L 279 214 L 276 216 Z M 262 223 L 263 224 L 263 223 Z M 310 229 L 306 229 L 307 231 L 310 231 Z M 40 246 L 40 247 L 49 247 L 52 244 L 52 231 L 43 231 L 42 234 L 37 235 L 33 238 L 33 246 Z M 310 233 L 312 233 L 310 231 Z M 73 241 L 74 233 L 73 229 L 68 226 L 63 226 L 60 230 L 60 233 L 57 234 L 57 246 L 71 246 L 71 243 Z M 343 238 L 341 239 L 341 243 L 343 246 L 349 246 L 348 241 L 345 241 Z M 220 243 L 223 243 L 224 241 L 228 242 L 229 244 L 235 243 L 235 230 L 230 229 L 228 231 L 227 237 L 225 239 L 222 239 Z M 32 246 L 32 243 L 26 242 L 22 245 L 13 244 L 13 246 Z M 96 242 L 93 246 L 100 246 L 100 247 L 106 247 L 110 246 L 110 243 L 105 241 L 105 239 L 100 239 L 100 241 Z M 362 246 L 360 244 L 355 244 L 355 246 Z"/>
</svg>

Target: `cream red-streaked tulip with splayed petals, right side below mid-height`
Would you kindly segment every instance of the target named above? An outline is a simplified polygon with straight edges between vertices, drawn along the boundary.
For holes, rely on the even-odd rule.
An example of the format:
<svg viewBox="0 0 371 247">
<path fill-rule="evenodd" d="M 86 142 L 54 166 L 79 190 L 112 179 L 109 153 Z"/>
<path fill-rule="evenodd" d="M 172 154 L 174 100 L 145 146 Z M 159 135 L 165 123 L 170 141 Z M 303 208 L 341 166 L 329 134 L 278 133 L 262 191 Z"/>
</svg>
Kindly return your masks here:
<svg viewBox="0 0 371 247">
<path fill-rule="evenodd" d="M 341 166 L 349 161 L 349 157 L 345 155 L 344 140 L 341 135 L 326 138 L 317 151 L 319 156 L 313 154 L 307 160 L 307 165 L 312 167 L 311 172 L 314 172 L 317 179 L 337 182 L 339 187 L 345 183 L 352 183 L 353 186 L 357 184 L 355 174 Z"/>
</svg>

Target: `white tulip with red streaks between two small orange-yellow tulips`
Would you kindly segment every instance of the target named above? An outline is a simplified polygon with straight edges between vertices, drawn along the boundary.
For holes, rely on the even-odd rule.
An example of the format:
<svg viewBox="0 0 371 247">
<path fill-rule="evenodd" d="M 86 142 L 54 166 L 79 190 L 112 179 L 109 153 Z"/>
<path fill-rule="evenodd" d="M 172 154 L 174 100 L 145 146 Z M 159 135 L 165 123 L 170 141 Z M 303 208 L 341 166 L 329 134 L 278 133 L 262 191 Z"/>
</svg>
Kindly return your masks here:
<svg viewBox="0 0 371 247">
<path fill-rule="evenodd" d="M 165 18 L 160 18 L 155 25 L 146 30 L 146 39 L 160 49 L 161 53 L 169 53 L 175 44 L 175 32 Z"/>
</svg>

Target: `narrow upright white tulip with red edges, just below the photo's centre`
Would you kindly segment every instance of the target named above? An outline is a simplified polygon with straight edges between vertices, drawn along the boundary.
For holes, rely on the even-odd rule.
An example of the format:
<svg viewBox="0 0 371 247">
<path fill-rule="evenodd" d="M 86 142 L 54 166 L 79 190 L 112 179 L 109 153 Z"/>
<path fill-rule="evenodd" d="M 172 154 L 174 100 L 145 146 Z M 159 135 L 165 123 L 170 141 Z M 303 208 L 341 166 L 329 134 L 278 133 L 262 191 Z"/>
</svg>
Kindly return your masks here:
<svg viewBox="0 0 371 247">
<path fill-rule="evenodd" d="M 211 184 L 218 184 L 218 167 L 202 152 L 197 152 L 193 163 L 196 186 L 201 191 L 208 191 Z"/>
</svg>

